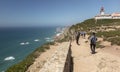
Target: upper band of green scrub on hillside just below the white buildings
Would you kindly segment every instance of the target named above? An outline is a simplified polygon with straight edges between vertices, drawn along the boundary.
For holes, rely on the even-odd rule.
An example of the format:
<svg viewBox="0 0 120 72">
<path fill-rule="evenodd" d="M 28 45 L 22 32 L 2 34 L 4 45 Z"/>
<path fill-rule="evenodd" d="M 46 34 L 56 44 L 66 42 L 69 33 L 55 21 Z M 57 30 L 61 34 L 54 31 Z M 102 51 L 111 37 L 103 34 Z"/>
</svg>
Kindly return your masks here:
<svg viewBox="0 0 120 72">
<path fill-rule="evenodd" d="M 84 22 L 72 25 L 70 29 L 89 31 L 90 29 L 95 30 L 97 27 L 113 25 L 120 25 L 120 19 L 101 19 L 97 21 L 95 19 L 88 19 Z"/>
</svg>

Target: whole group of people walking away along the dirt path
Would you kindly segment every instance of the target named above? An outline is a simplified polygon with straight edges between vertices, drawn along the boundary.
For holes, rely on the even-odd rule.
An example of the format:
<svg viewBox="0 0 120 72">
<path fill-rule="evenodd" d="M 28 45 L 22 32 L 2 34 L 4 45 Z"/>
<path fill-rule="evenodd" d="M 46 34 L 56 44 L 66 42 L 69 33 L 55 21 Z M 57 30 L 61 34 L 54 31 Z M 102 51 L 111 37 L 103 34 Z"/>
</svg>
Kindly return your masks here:
<svg viewBox="0 0 120 72">
<path fill-rule="evenodd" d="M 83 32 L 79 32 L 79 31 L 76 32 L 76 43 L 77 43 L 77 45 L 80 45 L 79 44 L 79 38 L 80 38 L 80 36 L 82 36 L 83 38 L 85 38 L 86 32 L 85 31 L 83 31 Z M 95 52 L 96 41 L 97 41 L 97 37 L 95 35 L 95 32 L 92 33 L 92 35 L 90 36 L 89 40 L 90 40 L 90 48 L 91 48 L 91 51 L 92 51 L 91 53 L 95 54 L 96 53 Z"/>
</svg>

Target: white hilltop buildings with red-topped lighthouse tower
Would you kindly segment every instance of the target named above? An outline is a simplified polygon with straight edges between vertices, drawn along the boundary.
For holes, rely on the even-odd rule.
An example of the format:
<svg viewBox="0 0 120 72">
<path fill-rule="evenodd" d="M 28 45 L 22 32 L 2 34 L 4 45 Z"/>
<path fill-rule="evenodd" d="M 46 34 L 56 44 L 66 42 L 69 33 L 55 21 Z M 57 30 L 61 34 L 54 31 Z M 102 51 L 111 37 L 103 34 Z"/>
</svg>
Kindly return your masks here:
<svg viewBox="0 0 120 72">
<path fill-rule="evenodd" d="M 100 14 L 95 19 L 120 19 L 120 13 L 105 14 L 104 7 L 101 7 Z"/>
</svg>

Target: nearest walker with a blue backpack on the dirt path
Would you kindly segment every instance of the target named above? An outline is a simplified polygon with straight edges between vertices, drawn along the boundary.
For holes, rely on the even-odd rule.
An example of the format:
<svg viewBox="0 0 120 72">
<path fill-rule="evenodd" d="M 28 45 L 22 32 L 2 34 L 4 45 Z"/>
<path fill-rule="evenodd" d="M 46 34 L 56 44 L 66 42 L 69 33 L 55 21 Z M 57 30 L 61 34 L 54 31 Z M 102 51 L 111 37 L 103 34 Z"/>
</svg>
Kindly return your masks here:
<svg viewBox="0 0 120 72">
<path fill-rule="evenodd" d="M 95 48 L 96 48 L 96 41 L 97 41 L 97 37 L 95 35 L 95 33 L 93 32 L 92 36 L 90 37 L 90 48 L 92 51 L 92 54 L 95 54 Z"/>
</svg>

